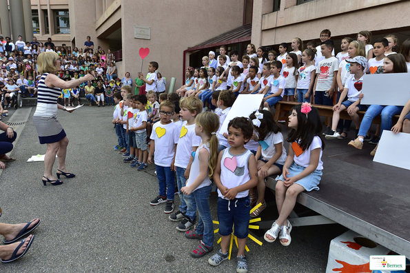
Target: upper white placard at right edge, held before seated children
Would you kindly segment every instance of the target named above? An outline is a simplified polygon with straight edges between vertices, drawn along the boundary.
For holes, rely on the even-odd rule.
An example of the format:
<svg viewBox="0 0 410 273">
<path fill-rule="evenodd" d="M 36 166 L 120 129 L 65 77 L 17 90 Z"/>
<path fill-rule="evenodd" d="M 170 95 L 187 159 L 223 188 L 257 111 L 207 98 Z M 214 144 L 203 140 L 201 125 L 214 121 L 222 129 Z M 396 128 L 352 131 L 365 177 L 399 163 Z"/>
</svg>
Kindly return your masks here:
<svg viewBox="0 0 410 273">
<path fill-rule="evenodd" d="M 410 73 L 367 74 L 360 101 L 364 105 L 404 106 L 410 99 Z"/>
</svg>

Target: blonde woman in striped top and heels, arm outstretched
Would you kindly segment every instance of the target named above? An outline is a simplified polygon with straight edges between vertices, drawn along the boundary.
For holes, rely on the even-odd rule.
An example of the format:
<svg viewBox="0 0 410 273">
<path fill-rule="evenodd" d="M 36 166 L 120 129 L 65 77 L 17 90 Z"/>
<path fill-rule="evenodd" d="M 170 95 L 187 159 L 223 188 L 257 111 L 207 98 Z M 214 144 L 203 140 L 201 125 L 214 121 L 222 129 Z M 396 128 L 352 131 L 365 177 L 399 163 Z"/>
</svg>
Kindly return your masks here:
<svg viewBox="0 0 410 273">
<path fill-rule="evenodd" d="M 61 95 L 62 89 L 74 88 L 85 81 L 91 81 L 94 77 L 92 74 L 87 74 L 80 79 L 73 79 L 71 81 L 63 81 L 59 79 L 54 73 L 60 69 L 60 59 L 56 52 L 44 52 L 38 58 L 39 74 L 41 75 L 39 81 L 39 88 L 37 92 L 37 109 L 33 115 L 33 123 L 39 134 L 41 144 L 47 144 L 47 152 L 45 152 L 45 171 L 43 184 L 51 183 L 52 185 L 60 185 L 62 181 L 54 178 L 52 174 L 52 166 L 56 160 L 56 154 L 59 159 L 59 166 L 57 169 L 57 177 L 61 175 L 66 178 L 72 178 L 75 174 L 68 172 L 65 168 L 65 155 L 67 154 L 68 138 L 65 135 L 63 127 L 57 121 L 57 110 L 72 112 L 70 108 L 57 103 L 57 99 Z"/>
</svg>

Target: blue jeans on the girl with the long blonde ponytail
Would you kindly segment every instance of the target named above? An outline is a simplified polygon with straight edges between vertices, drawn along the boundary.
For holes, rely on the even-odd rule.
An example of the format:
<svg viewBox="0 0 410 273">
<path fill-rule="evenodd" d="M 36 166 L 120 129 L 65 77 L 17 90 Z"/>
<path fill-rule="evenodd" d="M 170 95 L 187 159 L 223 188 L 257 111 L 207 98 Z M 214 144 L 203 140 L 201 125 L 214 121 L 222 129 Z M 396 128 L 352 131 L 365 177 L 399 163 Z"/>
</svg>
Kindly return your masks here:
<svg viewBox="0 0 410 273">
<path fill-rule="evenodd" d="M 198 225 L 196 226 L 196 234 L 203 234 L 202 241 L 208 247 L 212 247 L 212 245 L 214 245 L 214 223 L 212 222 L 211 210 L 209 208 L 209 195 L 211 194 L 211 190 L 212 185 L 208 185 L 192 192 L 195 196 L 196 208 L 198 209 Z"/>
</svg>

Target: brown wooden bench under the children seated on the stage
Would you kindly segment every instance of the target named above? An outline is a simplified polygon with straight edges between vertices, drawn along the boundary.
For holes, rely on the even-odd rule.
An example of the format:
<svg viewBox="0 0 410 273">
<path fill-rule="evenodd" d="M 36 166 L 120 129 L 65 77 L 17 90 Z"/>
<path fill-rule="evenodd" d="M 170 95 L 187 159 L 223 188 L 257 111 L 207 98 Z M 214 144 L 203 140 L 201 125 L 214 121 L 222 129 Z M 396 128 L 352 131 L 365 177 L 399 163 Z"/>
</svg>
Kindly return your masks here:
<svg viewBox="0 0 410 273">
<path fill-rule="evenodd" d="M 275 110 L 275 117 L 274 117 L 275 121 L 277 122 L 279 120 L 279 116 L 280 116 L 281 111 L 291 111 L 291 109 L 294 107 L 294 105 L 298 105 L 298 104 L 301 104 L 301 103 L 298 103 L 298 102 L 295 102 L 295 101 L 278 101 L 278 103 L 276 103 L 276 110 Z M 333 106 L 316 105 L 316 104 L 313 104 L 312 106 L 314 106 L 315 108 L 318 109 L 320 116 L 328 117 L 328 118 L 333 117 Z M 365 116 L 365 113 L 366 113 L 365 111 L 359 111 L 358 112 L 360 120 L 363 119 L 363 117 Z M 393 117 L 393 124 L 396 124 L 399 117 L 400 117 L 400 114 L 396 114 Z M 351 120 L 351 117 L 347 113 L 347 110 L 343 110 L 342 112 L 340 112 L 340 119 L 349 119 L 349 120 Z M 373 119 L 372 123 L 375 123 L 375 124 L 382 123 L 382 119 L 381 119 L 380 115 L 375 117 Z"/>
</svg>

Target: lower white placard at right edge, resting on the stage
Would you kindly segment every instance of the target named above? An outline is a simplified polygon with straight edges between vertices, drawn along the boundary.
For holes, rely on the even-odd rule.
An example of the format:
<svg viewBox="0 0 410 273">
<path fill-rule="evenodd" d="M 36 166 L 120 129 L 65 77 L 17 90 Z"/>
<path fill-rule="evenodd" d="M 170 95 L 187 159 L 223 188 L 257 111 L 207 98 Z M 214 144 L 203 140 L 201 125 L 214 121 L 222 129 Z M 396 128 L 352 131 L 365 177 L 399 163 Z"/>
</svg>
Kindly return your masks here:
<svg viewBox="0 0 410 273">
<path fill-rule="evenodd" d="M 383 130 L 373 161 L 410 170 L 410 134 Z"/>
</svg>

